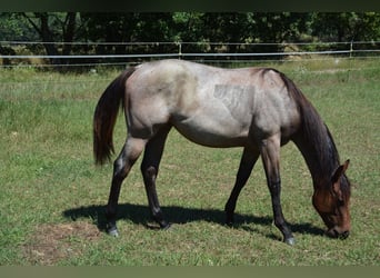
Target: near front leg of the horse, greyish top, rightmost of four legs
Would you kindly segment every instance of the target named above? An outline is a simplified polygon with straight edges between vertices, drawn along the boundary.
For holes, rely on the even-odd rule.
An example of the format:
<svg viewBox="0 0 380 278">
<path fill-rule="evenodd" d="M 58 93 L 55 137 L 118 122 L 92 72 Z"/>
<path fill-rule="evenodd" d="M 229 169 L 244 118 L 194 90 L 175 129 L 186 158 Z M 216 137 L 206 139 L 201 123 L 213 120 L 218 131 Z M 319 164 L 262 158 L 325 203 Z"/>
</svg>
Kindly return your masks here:
<svg viewBox="0 0 380 278">
<path fill-rule="evenodd" d="M 262 140 L 261 157 L 272 200 L 274 225 L 281 231 L 283 241 L 288 245 L 293 245 L 294 238 L 284 220 L 281 207 L 280 140 L 280 136 L 273 136 Z"/>
</svg>

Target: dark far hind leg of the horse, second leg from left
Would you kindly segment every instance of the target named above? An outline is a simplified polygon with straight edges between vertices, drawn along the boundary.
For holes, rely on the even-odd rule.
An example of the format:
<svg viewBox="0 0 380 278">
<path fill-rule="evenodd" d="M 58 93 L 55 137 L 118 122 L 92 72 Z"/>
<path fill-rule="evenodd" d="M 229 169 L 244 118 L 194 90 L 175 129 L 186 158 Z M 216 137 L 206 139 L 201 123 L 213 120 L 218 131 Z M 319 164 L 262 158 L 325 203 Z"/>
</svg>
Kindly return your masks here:
<svg viewBox="0 0 380 278">
<path fill-rule="evenodd" d="M 169 131 L 170 126 L 166 126 L 148 141 L 143 160 L 141 162 L 141 172 L 147 190 L 150 212 L 153 220 L 157 221 L 161 228 L 168 228 L 170 225 L 163 218 L 163 214 L 160 208 L 156 190 L 156 178 L 158 176 L 159 165 Z"/>
</svg>

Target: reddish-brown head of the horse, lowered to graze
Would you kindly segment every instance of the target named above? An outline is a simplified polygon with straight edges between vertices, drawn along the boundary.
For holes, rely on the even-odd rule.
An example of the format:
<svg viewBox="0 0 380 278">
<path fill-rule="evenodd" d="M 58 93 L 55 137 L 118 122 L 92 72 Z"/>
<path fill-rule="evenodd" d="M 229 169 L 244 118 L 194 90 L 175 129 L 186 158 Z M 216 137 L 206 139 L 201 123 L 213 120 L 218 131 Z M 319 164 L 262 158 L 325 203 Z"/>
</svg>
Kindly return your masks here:
<svg viewBox="0 0 380 278">
<path fill-rule="evenodd" d="M 331 177 L 329 187 L 317 189 L 312 203 L 328 227 L 327 235 L 346 239 L 350 234 L 350 181 L 344 172 L 349 160 L 339 166 Z"/>
</svg>

